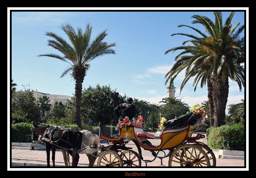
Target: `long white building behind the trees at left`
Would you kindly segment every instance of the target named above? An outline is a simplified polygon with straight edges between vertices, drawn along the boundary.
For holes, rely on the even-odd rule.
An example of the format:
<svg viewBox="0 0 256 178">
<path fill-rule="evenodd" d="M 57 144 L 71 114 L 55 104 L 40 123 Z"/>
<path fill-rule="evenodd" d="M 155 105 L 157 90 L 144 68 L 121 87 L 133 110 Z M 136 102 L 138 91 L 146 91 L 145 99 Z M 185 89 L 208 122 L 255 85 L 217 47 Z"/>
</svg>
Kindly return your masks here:
<svg viewBox="0 0 256 178">
<path fill-rule="evenodd" d="M 60 102 L 63 104 L 63 105 L 67 105 L 68 104 L 68 101 L 67 100 L 71 100 L 71 96 L 67 96 L 67 95 L 51 95 L 51 94 L 46 94 L 46 93 L 41 93 L 41 92 L 37 92 L 37 91 L 33 91 L 33 96 L 37 99 L 39 97 L 43 97 L 43 96 L 46 96 L 46 97 L 49 97 L 49 100 L 50 102 L 48 104 L 51 104 L 51 110 L 50 112 L 52 111 L 53 109 L 53 105 L 55 104 L 56 101 Z"/>
</svg>

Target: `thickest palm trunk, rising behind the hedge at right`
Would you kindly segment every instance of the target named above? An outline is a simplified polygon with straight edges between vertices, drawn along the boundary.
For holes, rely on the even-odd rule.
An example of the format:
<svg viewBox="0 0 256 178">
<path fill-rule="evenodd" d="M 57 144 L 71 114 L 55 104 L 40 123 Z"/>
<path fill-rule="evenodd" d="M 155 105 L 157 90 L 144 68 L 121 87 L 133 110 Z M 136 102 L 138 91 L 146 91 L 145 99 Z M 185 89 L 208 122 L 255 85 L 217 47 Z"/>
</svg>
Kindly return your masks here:
<svg viewBox="0 0 256 178">
<path fill-rule="evenodd" d="M 222 79 L 222 76 L 213 75 L 212 82 L 212 99 L 214 103 L 214 127 L 220 127 L 225 124 L 226 104 L 228 102 L 228 77 Z"/>
</svg>

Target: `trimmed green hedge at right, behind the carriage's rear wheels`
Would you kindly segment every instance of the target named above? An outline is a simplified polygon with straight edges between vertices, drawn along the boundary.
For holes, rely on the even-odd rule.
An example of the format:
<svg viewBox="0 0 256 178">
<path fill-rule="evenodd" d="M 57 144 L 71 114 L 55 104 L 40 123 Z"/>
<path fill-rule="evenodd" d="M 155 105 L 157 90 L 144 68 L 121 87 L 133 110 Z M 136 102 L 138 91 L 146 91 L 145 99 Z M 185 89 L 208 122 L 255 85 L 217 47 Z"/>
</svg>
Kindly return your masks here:
<svg viewBox="0 0 256 178">
<path fill-rule="evenodd" d="M 244 151 L 244 125 L 223 125 L 217 128 L 209 128 L 207 145 L 212 149 L 242 150 Z"/>
</svg>

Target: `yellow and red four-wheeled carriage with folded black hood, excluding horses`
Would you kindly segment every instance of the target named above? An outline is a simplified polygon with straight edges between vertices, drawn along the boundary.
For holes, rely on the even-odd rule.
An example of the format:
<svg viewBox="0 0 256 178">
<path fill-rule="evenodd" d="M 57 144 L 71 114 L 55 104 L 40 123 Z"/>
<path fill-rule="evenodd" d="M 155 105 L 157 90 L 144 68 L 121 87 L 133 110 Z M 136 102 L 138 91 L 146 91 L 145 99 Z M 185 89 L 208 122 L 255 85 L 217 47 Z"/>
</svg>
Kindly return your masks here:
<svg viewBox="0 0 256 178">
<path fill-rule="evenodd" d="M 216 158 L 213 151 L 198 140 L 204 135 L 193 132 L 200 130 L 204 125 L 198 125 L 202 115 L 186 114 L 178 119 L 165 123 L 165 128 L 160 134 L 161 143 L 153 145 L 149 139 L 155 139 L 155 135 L 143 132 L 141 123 L 131 122 L 121 128 L 117 138 L 100 135 L 100 138 L 112 142 L 108 146 L 100 146 L 103 151 L 98 159 L 98 166 L 141 166 L 141 161 L 146 163 L 156 158 L 169 157 L 168 166 L 216 166 Z M 121 124 L 122 125 L 122 124 Z M 138 152 L 127 147 L 127 143 L 133 142 Z M 142 157 L 141 148 L 151 151 L 154 159 L 145 160 Z M 165 151 L 168 151 L 166 154 Z M 161 154 L 160 154 L 161 152 Z"/>
</svg>

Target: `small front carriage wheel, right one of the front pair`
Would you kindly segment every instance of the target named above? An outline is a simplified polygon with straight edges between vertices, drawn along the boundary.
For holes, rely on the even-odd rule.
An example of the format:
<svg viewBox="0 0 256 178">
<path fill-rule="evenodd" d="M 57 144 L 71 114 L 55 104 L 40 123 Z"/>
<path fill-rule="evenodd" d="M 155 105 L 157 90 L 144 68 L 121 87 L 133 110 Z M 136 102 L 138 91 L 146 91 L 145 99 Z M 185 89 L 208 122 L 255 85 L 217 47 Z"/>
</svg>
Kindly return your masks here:
<svg viewBox="0 0 256 178">
<path fill-rule="evenodd" d="M 126 150 L 120 154 L 121 159 L 123 160 L 123 165 L 132 167 L 132 166 L 141 166 L 141 159 L 138 153 L 132 150 Z"/>
</svg>

